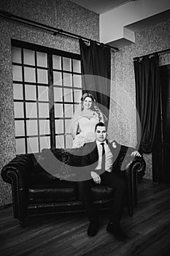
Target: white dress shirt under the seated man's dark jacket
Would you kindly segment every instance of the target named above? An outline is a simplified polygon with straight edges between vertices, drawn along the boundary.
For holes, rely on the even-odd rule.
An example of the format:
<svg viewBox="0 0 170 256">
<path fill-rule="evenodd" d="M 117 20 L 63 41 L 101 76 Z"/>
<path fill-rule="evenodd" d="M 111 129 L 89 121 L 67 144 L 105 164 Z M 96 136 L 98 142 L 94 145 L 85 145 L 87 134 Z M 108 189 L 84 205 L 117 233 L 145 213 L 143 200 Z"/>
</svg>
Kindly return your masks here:
<svg viewBox="0 0 170 256">
<path fill-rule="evenodd" d="M 113 155 L 109 149 L 109 146 L 108 146 L 106 140 L 104 142 L 100 142 L 100 141 L 96 140 L 96 143 L 97 143 L 97 148 L 98 148 L 98 164 L 97 164 L 95 170 L 101 169 L 102 150 L 103 150 L 103 146 L 101 145 L 101 143 L 104 143 L 104 150 L 105 150 L 105 155 L 106 155 L 105 170 L 107 170 L 108 172 L 111 172 L 112 165 L 113 165 Z"/>
</svg>

